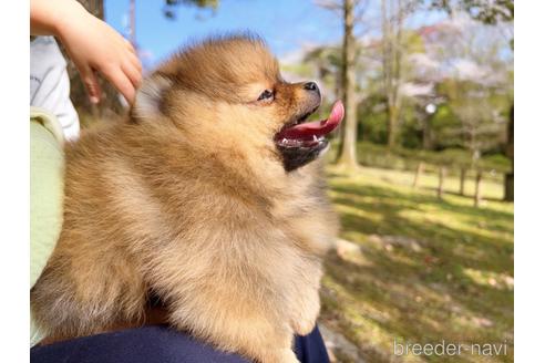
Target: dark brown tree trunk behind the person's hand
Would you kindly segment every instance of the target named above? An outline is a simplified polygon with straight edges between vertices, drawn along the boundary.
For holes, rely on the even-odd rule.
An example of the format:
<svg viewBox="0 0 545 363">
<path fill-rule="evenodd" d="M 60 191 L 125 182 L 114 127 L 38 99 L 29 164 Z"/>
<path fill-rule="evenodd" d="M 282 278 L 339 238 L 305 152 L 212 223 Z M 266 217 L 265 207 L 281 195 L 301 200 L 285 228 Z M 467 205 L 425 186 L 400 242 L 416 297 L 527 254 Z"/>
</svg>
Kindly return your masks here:
<svg viewBox="0 0 545 363">
<path fill-rule="evenodd" d="M 104 1 L 103 0 L 78 0 L 89 12 L 100 19 L 104 19 Z M 61 49 L 64 53 L 64 58 L 66 59 L 66 70 L 70 77 L 70 98 L 72 103 L 76 107 L 79 113 L 90 114 L 94 117 L 107 117 L 109 114 L 117 114 L 121 115 L 126 112 L 125 107 L 120 101 L 120 96 L 117 91 L 102 77 L 99 75 L 99 84 L 102 90 L 101 102 L 97 105 L 92 104 L 89 101 L 88 91 L 85 85 L 83 84 L 80 73 L 75 68 L 74 63 L 68 58 L 65 50 L 62 46 L 62 43 L 58 42 L 61 45 Z M 85 126 L 85 125 L 82 125 Z"/>
</svg>

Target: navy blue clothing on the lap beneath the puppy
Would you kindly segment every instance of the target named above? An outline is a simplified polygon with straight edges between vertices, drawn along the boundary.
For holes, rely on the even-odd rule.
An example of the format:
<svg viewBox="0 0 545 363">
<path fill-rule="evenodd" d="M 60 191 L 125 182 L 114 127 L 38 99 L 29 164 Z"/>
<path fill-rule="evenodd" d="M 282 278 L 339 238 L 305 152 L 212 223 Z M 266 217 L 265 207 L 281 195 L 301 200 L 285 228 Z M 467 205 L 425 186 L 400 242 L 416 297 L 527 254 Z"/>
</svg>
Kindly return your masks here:
<svg viewBox="0 0 545 363">
<path fill-rule="evenodd" d="M 296 354 L 302 363 L 329 363 L 318 326 L 297 336 Z M 248 363 L 214 350 L 165 325 L 148 325 L 78 338 L 30 350 L 31 363 Z"/>
</svg>

